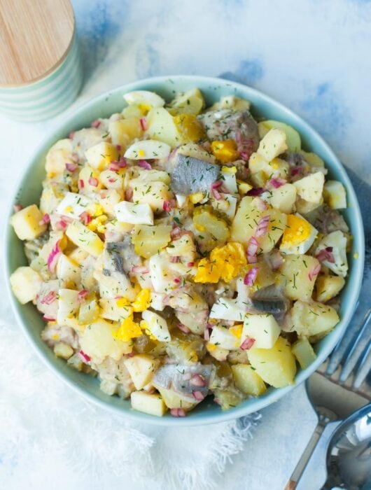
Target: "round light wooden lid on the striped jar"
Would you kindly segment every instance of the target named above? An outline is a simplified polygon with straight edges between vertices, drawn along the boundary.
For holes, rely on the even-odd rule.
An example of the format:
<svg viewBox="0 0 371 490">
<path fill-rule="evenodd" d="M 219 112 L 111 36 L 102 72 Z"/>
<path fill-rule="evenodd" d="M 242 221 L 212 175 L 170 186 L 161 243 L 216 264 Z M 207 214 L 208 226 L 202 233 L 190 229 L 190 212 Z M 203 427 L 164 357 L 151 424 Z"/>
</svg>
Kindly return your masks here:
<svg viewBox="0 0 371 490">
<path fill-rule="evenodd" d="M 0 87 L 26 85 L 56 69 L 74 25 L 69 0 L 0 0 Z"/>
</svg>

